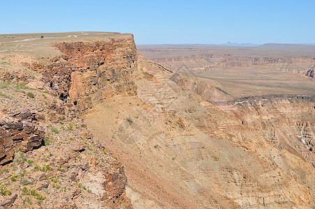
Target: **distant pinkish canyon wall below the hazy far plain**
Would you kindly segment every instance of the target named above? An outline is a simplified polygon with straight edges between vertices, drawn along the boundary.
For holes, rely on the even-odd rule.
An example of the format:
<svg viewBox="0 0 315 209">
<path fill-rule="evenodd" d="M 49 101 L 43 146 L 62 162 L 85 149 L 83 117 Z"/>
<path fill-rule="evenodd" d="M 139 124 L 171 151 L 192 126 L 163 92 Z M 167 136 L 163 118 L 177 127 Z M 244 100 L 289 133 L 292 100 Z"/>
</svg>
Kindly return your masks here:
<svg viewBox="0 0 315 209">
<path fill-rule="evenodd" d="M 153 61 L 176 71 L 201 72 L 228 68 L 266 68 L 294 72 L 314 79 L 312 57 L 245 57 L 231 54 L 200 54 L 155 58 Z"/>
</svg>

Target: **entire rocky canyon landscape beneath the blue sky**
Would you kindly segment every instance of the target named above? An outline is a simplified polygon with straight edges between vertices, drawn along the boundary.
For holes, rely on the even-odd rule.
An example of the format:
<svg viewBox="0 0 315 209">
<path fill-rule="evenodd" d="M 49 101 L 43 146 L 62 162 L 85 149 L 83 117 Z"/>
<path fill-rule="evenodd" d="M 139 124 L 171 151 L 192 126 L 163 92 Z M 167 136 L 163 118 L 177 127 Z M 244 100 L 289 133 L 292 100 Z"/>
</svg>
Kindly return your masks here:
<svg viewBox="0 0 315 209">
<path fill-rule="evenodd" d="M 314 58 L 0 35 L 0 206 L 314 208 Z"/>
</svg>

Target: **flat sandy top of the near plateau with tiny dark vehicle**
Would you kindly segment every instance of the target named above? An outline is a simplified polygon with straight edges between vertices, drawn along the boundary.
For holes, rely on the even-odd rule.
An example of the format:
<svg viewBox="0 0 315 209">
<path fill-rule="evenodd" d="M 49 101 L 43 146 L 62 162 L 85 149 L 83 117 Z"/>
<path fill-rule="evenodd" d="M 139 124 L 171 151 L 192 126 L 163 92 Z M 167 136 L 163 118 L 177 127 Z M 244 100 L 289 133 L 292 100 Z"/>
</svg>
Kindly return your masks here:
<svg viewBox="0 0 315 209">
<path fill-rule="evenodd" d="M 41 38 L 43 36 L 43 38 Z M 54 56 L 61 52 L 49 46 L 53 42 L 75 42 L 130 38 L 130 33 L 68 32 L 68 33 L 17 33 L 0 34 L 0 54 L 33 57 Z"/>
</svg>

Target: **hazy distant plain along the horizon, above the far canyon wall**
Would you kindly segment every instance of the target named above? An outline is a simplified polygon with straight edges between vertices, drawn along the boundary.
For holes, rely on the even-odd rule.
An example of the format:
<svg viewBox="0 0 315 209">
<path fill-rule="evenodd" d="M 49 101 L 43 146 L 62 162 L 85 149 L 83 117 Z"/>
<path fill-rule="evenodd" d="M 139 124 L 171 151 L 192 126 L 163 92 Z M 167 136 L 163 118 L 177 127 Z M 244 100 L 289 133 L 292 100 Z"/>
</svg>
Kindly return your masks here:
<svg viewBox="0 0 315 209">
<path fill-rule="evenodd" d="M 315 57 L 315 45 L 264 44 L 257 47 L 226 45 L 137 45 L 149 59 L 198 54 L 231 54 L 247 57 Z"/>
</svg>

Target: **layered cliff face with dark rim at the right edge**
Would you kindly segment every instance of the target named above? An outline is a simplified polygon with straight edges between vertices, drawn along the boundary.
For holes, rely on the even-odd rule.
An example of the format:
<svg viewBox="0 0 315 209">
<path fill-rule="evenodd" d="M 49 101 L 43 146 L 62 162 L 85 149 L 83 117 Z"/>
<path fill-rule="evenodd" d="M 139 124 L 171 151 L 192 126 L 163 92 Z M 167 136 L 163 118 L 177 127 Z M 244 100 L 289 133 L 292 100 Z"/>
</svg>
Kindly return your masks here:
<svg viewBox="0 0 315 209">
<path fill-rule="evenodd" d="M 221 105 L 244 125 L 263 133 L 279 150 L 286 149 L 315 167 L 314 95 L 267 95 L 229 103 L 228 108 Z"/>
</svg>

